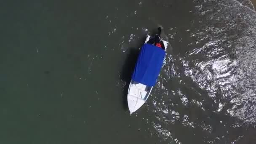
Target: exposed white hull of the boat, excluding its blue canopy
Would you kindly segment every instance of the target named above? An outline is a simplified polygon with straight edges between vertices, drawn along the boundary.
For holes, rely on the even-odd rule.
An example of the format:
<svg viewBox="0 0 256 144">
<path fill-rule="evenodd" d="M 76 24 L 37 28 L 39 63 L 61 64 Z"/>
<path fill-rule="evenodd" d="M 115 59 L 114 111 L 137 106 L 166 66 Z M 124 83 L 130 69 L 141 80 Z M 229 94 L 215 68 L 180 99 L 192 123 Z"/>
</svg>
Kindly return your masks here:
<svg viewBox="0 0 256 144">
<path fill-rule="evenodd" d="M 147 35 L 145 43 L 149 41 L 149 38 L 150 36 Z M 163 40 L 163 43 L 165 45 L 165 51 L 166 51 L 168 42 Z M 153 87 L 149 87 L 147 85 L 143 85 L 141 83 L 137 83 L 131 80 L 131 83 L 128 88 L 128 95 L 127 95 L 128 108 L 131 114 L 136 110 L 138 110 L 147 101 L 152 91 L 152 88 Z"/>
</svg>

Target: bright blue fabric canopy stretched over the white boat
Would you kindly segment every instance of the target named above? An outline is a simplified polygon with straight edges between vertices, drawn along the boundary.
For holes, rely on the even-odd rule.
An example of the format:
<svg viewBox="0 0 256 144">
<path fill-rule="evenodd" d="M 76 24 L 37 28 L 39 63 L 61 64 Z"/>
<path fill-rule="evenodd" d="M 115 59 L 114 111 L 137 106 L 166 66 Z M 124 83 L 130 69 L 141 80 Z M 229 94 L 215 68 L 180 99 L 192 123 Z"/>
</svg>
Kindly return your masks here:
<svg viewBox="0 0 256 144">
<path fill-rule="evenodd" d="M 162 68 L 165 51 L 155 45 L 144 44 L 132 75 L 132 80 L 154 86 Z"/>
</svg>

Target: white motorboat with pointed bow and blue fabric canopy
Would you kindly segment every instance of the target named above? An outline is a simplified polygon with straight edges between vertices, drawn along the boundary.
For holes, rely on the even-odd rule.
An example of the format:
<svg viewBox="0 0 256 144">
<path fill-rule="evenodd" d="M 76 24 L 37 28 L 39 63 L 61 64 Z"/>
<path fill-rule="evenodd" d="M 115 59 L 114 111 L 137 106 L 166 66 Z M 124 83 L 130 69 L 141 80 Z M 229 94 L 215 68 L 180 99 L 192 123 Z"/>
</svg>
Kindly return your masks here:
<svg viewBox="0 0 256 144">
<path fill-rule="evenodd" d="M 138 110 L 148 99 L 157 77 L 162 68 L 165 51 L 168 42 L 162 40 L 165 50 L 155 45 L 148 44 L 151 39 L 149 35 L 141 47 L 136 67 L 133 71 L 132 80 L 128 88 L 128 107 L 132 114 Z"/>
</svg>

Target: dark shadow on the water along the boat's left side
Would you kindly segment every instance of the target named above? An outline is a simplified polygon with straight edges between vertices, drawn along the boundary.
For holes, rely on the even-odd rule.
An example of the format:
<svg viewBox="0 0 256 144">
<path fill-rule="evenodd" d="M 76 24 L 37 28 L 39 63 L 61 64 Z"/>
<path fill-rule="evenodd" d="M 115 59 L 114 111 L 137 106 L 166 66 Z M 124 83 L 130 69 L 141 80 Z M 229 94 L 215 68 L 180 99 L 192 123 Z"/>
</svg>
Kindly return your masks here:
<svg viewBox="0 0 256 144">
<path fill-rule="evenodd" d="M 125 53 L 126 53 L 126 58 L 122 67 L 120 78 L 122 81 L 125 82 L 125 85 L 123 86 L 123 108 L 126 111 L 128 110 L 128 103 L 127 103 L 128 88 L 131 82 L 131 75 L 133 74 L 133 70 L 139 56 L 139 48 L 128 48 L 128 50 Z"/>
</svg>

